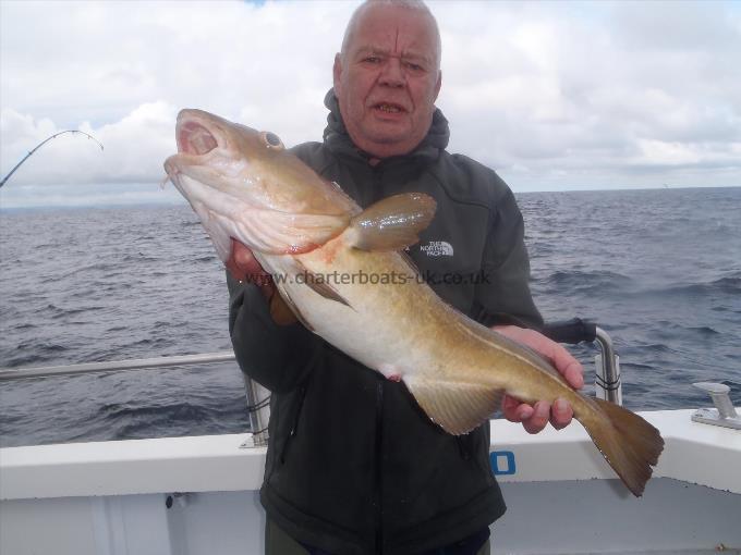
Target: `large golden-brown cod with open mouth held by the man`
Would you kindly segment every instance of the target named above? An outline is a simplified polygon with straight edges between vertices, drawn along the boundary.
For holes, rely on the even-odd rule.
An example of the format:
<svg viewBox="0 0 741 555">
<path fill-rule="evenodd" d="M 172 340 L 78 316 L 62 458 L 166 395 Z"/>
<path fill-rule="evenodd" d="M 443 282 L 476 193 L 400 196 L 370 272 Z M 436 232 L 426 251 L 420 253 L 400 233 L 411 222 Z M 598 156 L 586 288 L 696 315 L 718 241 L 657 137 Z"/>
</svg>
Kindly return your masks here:
<svg viewBox="0 0 741 555">
<path fill-rule="evenodd" d="M 361 210 L 275 134 L 199 110 L 180 112 L 175 135 L 178 153 L 165 169 L 218 256 L 229 258 L 232 237 L 248 246 L 306 328 L 404 382 L 451 434 L 486 421 L 505 393 L 527 403 L 561 397 L 628 489 L 643 493 L 664 448 L 658 430 L 574 391 L 536 353 L 466 318 L 416 279 L 401 249 L 433 219 L 429 196 L 397 195 Z"/>
</svg>

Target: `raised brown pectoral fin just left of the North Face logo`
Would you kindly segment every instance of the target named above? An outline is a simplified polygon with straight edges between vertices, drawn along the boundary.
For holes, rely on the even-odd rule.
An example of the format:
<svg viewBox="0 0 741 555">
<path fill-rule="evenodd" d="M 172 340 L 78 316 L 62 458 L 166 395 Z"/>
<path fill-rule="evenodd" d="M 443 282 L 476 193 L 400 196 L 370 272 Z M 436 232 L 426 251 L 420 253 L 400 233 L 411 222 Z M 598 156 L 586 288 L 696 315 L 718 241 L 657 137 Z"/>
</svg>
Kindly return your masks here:
<svg viewBox="0 0 741 555">
<path fill-rule="evenodd" d="M 420 240 L 437 203 L 423 193 L 404 193 L 369 206 L 350 222 L 355 232 L 351 243 L 361 250 L 401 250 Z"/>
</svg>

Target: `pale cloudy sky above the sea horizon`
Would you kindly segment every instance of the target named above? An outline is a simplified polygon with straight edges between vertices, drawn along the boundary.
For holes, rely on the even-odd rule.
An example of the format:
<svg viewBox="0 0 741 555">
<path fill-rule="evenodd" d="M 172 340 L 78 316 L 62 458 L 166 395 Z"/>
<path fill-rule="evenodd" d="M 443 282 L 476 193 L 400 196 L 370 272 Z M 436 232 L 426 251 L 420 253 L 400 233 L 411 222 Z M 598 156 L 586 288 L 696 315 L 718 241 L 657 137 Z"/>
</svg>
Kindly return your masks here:
<svg viewBox="0 0 741 555">
<path fill-rule="evenodd" d="M 321 140 L 355 1 L 0 0 L 0 208 L 182 201 L 182 108 Z M 741 185 L 741 2 L 430 1 L 449 150 L 514 192 Z"/>
</svg>

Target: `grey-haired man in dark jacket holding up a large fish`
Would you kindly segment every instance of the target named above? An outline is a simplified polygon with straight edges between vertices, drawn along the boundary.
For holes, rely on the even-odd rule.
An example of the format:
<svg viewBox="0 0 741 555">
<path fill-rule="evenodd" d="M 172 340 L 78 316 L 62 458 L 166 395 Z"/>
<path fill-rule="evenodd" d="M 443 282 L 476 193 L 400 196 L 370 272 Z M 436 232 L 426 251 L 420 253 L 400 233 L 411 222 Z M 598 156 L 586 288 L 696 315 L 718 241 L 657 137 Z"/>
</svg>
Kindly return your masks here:
<svg viewBox="0 0 741 555">
<path fill-rule="evenodd" d="M 542 320 L 512 193 L 491 170 L 445 151 L 448 123 L 434 106 L 439 64 L 437 24 L 422 2 L 364 3 L 335 59 L 324 143 L 294 152 L 362 207 L 404 192 L 435 197 L 435 219 L 410 256 L 423 274 L 487 276 L 430 283 L 436 293 L 537 349 L 580 387 L 579 362 L 525 329 Z M 299 323 L 277 324 L 266 300 L 276 294 L 269 281 L 248 283 L 262 269 L 246 247 L 233 242 L 227 267 L 234 353 L 272 392 L 260 491 L 266 552 L 488 553 L 488 525 L 505 511 L 488 462 L 488 424 L 464 436 L 446 434 L 403 384 Z M 572 417 L 562 400 L 531 407 L 508 398 L 502 409 L 531 433 L 549 419 L 562 428 Z"/>
</svg>

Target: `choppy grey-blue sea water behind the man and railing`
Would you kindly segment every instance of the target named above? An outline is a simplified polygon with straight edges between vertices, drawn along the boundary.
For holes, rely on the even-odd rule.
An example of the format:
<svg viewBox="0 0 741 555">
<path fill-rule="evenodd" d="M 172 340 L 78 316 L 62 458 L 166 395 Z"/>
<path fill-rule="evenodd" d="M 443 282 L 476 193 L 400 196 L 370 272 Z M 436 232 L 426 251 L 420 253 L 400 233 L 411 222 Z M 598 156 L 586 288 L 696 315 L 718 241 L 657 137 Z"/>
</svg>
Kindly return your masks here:
<svg viewBox="0 0 741 555">
<path fill-rule="evenodd" d="M 741 188 L 518 201 L 536 304 L 612 336 L 625 406 L 707 406 L 691 383 L 710 380 L 741 404 Z M 0 211 L 0 367 L 230 347 L 223 266 L 190 207 Z M 591 382 L 595 348 L 570 348 Z M 248 425 L 235 363 L 0 383 L 2 446 Z"/>
</svg>

